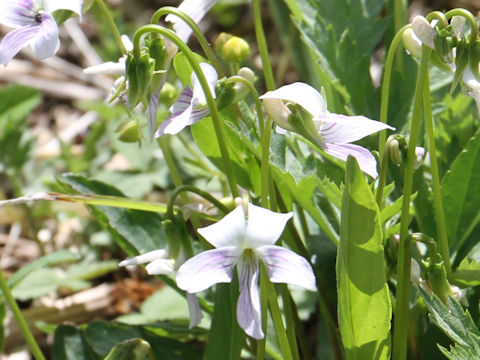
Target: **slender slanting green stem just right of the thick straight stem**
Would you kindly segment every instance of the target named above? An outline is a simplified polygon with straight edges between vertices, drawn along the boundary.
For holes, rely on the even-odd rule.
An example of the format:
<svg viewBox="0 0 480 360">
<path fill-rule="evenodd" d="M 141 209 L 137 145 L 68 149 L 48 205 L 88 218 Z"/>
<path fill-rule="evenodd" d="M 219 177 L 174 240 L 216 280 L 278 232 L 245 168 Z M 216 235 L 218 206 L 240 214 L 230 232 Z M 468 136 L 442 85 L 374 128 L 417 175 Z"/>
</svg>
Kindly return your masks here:
<svg viewBox="0 0 480 360">
<path fill-rule="evenodd" d="M 445 213 L 443 211 L 442 192 L 440 184 L 440 175 L 438 173 L 437 150 L 435 147 L 435 135 L 433 132 L 432 104 L 430 101 L 430 87 L 428 73 L 426 84 L 423 90 L 423 111 L 425 117 L 425 128 L 428 136 L 428 150 L 430 153 L 430 172 L 432 174 L 433 185 L 433 207 L 435 210 L 435 224 L 437 226 L 437 236 L 439 241 L 440 253 L 445 264 L 447 277 L 451 278 L 452 266 L 450 264 L 450 251 L 448 247 L 447 228 L 445 222 Z"/>
</svg>

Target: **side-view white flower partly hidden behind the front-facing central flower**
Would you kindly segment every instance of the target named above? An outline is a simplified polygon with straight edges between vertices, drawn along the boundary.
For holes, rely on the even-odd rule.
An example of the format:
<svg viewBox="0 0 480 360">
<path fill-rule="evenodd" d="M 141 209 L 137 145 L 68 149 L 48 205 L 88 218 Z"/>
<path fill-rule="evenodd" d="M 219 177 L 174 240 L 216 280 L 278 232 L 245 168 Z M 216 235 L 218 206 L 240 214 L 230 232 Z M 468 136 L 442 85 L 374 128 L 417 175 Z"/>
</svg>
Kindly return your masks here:
<svg viewBox="0 0 480 360">
<path fill-rule="evenodd" d="M 170 258 L 168 247 L 149 251 L 145 254 L 135 256 L 121 261 L 118 266 L 131 266 L 148 263 L 145 269 L 149 275 L 171 275 L 184 262 L 183 253 L 177 260 Z M 202 310 L 194 294 L 187 292 L 188 311 L 190 313 L 189 328 L 193 328 L 200 323 L 202 319 Z"/>
</svg>

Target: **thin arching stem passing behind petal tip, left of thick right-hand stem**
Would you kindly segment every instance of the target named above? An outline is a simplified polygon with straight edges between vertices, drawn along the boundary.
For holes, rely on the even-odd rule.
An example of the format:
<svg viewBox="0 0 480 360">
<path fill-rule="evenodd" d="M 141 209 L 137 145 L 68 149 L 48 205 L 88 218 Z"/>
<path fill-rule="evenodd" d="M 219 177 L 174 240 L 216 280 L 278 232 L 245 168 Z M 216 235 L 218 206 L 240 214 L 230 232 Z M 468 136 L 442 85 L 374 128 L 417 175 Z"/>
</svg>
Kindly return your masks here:
<svg viewBox="0 0 480 360">
<path fill-rule="evenodd" d="M 397 53 L 398 44 L 400 44 L 402 41 L 403 32 L 411 27 L 412 25 L 405 25 L 397 32 L 392 40 L 392 43 L 390 44 L 390 48 L 388 49 L 387 53 L 387 59 L 385 60 L 385 71 L 383 73 L 382 80 L 382 101 L 380 104 L 380 121 L 385 124 L 388 123 L 388 97 L 390 93 L 390 81 L 392 79 L 393 60 L 395 59 L 395 54 Z M 380 131 L 378 135 L 378 153 L 380 159 L 383 157 L 383 150 L 386 140 L 387 131 Z"/>
</svg>

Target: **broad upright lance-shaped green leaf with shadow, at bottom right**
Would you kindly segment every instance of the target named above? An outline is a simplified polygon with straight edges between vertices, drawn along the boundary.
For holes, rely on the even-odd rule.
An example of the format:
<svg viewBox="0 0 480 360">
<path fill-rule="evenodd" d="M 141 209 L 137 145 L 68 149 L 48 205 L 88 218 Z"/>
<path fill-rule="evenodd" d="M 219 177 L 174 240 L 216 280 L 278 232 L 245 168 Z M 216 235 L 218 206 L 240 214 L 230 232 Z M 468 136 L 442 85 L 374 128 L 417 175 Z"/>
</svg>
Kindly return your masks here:
<svg viewBox="0 0 480 360">
<path fill-rule="evenodd" d="M 357 162 L 349 157 L 336 267 L 347 359 L 389 359 L 392 309 L 384 268 L 378 207 Z"/>
</svg>

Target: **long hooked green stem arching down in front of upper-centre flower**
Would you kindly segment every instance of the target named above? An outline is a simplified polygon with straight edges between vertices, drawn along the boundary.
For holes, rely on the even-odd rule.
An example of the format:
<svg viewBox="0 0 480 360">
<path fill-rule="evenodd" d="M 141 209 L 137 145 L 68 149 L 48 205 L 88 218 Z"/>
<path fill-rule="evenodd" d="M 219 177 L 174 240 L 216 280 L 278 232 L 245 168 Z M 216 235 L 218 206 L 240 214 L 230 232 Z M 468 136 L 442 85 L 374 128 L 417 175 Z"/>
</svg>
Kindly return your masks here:
<svg viewBox="0 0 480 360">
<path fill-rule="evenodd" d="M 215 128 L 215 135 L 217 137 L 217 142 L 218 142 L 218 147 L 220 149 L 220 153 L 222 156 L 223 164 L 225 167 L 225 174 L 228 180 L 228 185 L 230 187 L 230 191 L 233 195 L 233 197 L 238 196 L 238 186 L 237 186 L 237 180 L 235 179 L 235 175 L 233 173 L 233 167 L 232 163 L 230 161 L 230 156 L 228 154 L 228 148 L 226 145 L 225 141 L 225 130 L 223 128 L 223 123 L 220 119 L 220 113 L 218 112 L 217 105 L 215 103 L 215 99 L 213 98 L 212 93 L 210 92 L 210 88 L 208 86 L 207 79 L 205 78 L 205 75 L 198 64 L 198 62 L 195 60 L 195 57 L 190 50 L 190 48 L 185 44 L 172 30 L 166 29 L 162 26 L 158 25 L 144 25 L 140 27 L 136 32 L 133 37 L 133 52 L 136 58 L 139 58 L 141 55 L 140 52 L 140 39 L 142 35 L 153 32 L 153 33 L 158 33 L 160 35 L 166 36 L 169 38 L 171 41 L 175 43 L 175 45 L 178 46 L 178 48 L 183 51 L 185 54 L 185 57 L 187 58 L 188 62 L 193 68 L 193 71 L 197 75 L 198 81 L 200 82 L 203 92 L 205 94 L 205 99 L 207 101 L 208 108 L 210 109 L 210 116 L 213 121 L 213 126 Z"/>
</svg>

